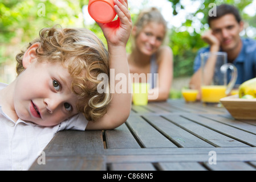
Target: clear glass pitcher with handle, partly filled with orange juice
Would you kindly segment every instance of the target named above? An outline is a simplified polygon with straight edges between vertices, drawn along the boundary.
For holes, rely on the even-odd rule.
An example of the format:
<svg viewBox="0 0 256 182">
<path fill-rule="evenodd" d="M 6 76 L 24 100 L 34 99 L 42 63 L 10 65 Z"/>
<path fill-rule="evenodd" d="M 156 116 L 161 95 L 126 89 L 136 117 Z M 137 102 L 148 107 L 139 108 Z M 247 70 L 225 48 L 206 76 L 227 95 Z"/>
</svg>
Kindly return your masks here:
<svg viewBox="0 0 256 182">
<path fill-rule="evenodd" d="M 201 101 L 218 103 L 233 89 L 237 80 L 237 68 L 233 64 L 227 63 L 226 52 L 205 52 L 200 56 Z"/>
</svg>

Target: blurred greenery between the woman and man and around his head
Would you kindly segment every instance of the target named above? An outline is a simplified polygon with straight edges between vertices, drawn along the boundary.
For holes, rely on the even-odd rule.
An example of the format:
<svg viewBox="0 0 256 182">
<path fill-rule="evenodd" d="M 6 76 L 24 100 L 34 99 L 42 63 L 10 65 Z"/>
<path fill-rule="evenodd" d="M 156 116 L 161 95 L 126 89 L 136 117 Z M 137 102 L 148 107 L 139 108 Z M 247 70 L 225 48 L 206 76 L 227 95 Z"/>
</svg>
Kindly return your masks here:
<svg viewBox="0 0 256 182">
<path fill-rule="evenodd" d="M 178 10 L 183 9 L 179 0 L 169 0 L 173 3 L 173 14 L 177 14 Z M 216 5 L 220 5 L 221 3 L 228 3 L 238 7 L 241 12 L 242 18 L 250 24 L 251 27 L 256 27 L 255 17 L 250 17 L 242 10 L 249 5 L 252 1 L 251 0 L 226 0 L 226 1 L 212 1 L 212 0 L 205 0 L 202 1 L 202 5 L 200 9 L 196 11 L 194 14 L 189 14 L 186 18 L 186 22 L 184 26 L 187 27 L 186 29 L 190 31 L 180 31 L 180 28 L 176 28 L 170 31 L 169 39 L 170 43 L 169 46 L 173 49 L 174 53 L 174 77 L 180 76 L 191 76 L 193 74 L 193 60 L 196 55 L 196 52 L 199 48 L 206 46 L 206 44 L 201 40 L 201 32 L 196 32 L 196 27 L 192 26 L 193 20 L 197 17 L 197 14 L 203 13 L 204 18 L 201 20 L 201 27 L 202 31 L 205 30 L 204 27 L 208 27 L 207 25 L 207 16 L 209 10 L 212 6 L 209 6 L 210 3 L 216 3 Z M 256 30 L 254 30 L 256 32 Z M 255 34 L 254 34 L 255 35 Z M 247 36 L 247 35 L 245 35 Z M 253 37 L 255 38 L 255 36 Z"/>
</svg>

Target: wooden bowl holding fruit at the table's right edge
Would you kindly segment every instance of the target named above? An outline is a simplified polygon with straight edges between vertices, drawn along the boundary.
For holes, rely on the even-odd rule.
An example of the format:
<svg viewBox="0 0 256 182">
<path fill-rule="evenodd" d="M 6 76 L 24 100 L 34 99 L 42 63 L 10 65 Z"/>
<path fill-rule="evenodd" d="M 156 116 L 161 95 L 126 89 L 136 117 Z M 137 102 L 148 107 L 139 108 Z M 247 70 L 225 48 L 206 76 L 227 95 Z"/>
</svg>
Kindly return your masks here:
<svg viewBox="0 0 256 182">
<path fill-rule="evenodd" d="M 220 101 L 235 119 L 256 119 L 256 98 L 239 98 L 237 94 Z"/>
</svg>

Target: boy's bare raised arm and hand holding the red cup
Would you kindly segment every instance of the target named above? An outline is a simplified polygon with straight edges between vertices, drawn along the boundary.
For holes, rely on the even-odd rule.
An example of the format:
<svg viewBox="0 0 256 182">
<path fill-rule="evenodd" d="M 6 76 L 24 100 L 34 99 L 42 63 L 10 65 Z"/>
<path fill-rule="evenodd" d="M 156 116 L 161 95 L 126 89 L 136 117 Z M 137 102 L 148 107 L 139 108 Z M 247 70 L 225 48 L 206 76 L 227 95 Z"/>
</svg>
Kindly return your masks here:
<svg viewBox="0 0 256 182">
<path fill-rule="evenodd" d="M 131 93 L 128 90 L 129 68 L 125 47 L 131 34 L 132 20 L 127 0 L 114 0 L 114 2 L 119 18 L 111 23 L 98 23 L 108 43 L 109 68 L 115 73 L 115 77 L 109 78 L 115 81 L 114 87 L 111 88 L 114 93 L 107 113 L 99 121 L 89 122 L 87 130 L 114 129 L 126 121 L 131 111 Z M 115 90 L 115 85 L 120 81 L 115 79 L 118 74 L 121 74 L 122 78 L 126 77 L 125 81 L 121 80 L 127 88 L 126 92 L 117 93 Z"/>
</svg>

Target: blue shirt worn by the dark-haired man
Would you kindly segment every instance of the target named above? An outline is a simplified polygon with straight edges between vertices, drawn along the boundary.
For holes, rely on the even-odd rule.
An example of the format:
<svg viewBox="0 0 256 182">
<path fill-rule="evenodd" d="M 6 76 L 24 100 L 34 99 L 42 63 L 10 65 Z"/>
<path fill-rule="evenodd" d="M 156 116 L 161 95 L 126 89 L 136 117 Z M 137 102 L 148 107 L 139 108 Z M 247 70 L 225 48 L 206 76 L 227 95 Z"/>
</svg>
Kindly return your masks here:
<svg viewBox="0 0 256 182">
<path fill-rule="evenodd" d="M 232 63 L 237 67 L 238 72 L 236 84 L 242 84 L 246 80 L 250 80 L 256 76 L 256 41 L 248 38 L 242 38 L 241 40 L 241 52 Z M 194 60 L 194 72 L 196 72 L 201 66 L 200 53 L 209 51 L 210 47 L 206 47 L 201 48 L 197 52 L 197 56 Z"/>
</svg>

